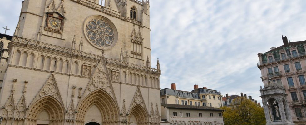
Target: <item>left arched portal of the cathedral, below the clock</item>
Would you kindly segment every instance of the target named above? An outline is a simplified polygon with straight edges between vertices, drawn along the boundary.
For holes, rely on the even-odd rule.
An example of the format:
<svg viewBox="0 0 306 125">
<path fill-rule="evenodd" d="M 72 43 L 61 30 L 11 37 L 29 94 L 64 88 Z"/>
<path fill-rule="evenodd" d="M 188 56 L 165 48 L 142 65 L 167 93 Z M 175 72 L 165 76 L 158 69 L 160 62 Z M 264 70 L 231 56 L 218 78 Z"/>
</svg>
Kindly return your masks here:
<svg viewBox="0 0 306 125">
<path fill-rule="evenodd" d="M 46 96 L 37 100 L 27 113 L 27 125 L 64 124 L 63 105 L 54 97 Z"/>
</svg>

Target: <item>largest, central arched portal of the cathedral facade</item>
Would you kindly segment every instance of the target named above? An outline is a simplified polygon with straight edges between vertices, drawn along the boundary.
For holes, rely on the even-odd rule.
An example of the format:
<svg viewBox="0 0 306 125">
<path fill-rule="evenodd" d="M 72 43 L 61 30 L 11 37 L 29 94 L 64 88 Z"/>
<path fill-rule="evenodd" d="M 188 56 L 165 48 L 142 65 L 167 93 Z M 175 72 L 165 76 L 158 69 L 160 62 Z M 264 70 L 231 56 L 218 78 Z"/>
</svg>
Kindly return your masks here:
<svg viewBox="0 0 306 125">
<path fill-rule="evenodd" d="M 95 117 L 100 118 L 91 118 L 91 111 L 99 111 L 95 113 Z M 119 108 L 113 98 L 104 90 L 97 89 L 89 93 L 77 107 L 77 122 L 86 123 L 86 122 L 101 122 L 104 124 L 117 124 L 119 122 Z M 94 119 L 95 121 L 92 121 Z M 101 121 L 99 121 L 101 119 Z"/>
</svg>

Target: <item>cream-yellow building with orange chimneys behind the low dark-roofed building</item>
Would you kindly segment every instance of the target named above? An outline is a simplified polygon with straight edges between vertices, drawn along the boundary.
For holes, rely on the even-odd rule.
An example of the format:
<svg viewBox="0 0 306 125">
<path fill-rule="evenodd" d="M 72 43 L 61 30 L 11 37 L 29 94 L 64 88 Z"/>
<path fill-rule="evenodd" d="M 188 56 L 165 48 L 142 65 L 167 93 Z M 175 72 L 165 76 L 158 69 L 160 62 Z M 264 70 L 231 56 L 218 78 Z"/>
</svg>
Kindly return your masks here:
<svg viewBox="0 0 306 125">
<path fill-rule="evenodd" d="M 194 90 L 183 91 L 176 90 L 176 84 L 172 83 L 171 89 L 160 90 L 160 99 L 164 104 L 222 107 L 221 92 L 206 87 L 199 88 L 198 85 L 194 85 Z"/>
</svg>

